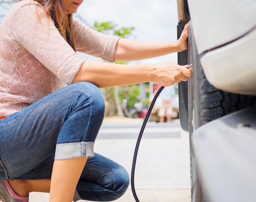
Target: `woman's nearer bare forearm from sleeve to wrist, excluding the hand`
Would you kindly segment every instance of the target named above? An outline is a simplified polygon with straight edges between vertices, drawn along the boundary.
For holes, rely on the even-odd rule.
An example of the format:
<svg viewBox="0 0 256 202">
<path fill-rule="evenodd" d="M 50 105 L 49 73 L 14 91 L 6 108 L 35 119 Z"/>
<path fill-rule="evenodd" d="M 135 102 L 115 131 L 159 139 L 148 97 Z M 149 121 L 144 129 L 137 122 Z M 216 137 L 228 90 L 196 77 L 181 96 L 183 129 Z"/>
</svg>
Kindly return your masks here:
<svg viewBox="0 0 256 202">
<path fill-rule="evenodd" d="M 123 65 L 110 62 L 85 61 L 72 83 L 88 81 L 98 88 L 153 81 L 150 65 Z"/>
</svg>

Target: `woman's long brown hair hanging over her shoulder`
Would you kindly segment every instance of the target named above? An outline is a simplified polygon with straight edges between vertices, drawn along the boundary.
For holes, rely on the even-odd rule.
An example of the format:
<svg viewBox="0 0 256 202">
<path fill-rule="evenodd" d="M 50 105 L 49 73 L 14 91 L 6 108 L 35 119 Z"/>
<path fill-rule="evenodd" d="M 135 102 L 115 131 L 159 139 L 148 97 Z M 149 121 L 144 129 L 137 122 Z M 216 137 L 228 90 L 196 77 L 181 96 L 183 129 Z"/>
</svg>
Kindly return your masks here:
<svg viewBox="0 0 256 202">
<path fill-rule="evenodd" d="M 22 1 L 22 0 L 19 0 Z M 65 6 L 62 0 L 34 0 L 37 1 L 44 9 L 48 17 L 50 16 L 55 24 L 55 27 L 59 30 L 61 36 L 69 43 L 69 45 L 76 51 L 75 36 L 73 30 L 73 14 L 66 14 Z M 40 16 L 38 13 L 37 17 Z"/>
</svg>

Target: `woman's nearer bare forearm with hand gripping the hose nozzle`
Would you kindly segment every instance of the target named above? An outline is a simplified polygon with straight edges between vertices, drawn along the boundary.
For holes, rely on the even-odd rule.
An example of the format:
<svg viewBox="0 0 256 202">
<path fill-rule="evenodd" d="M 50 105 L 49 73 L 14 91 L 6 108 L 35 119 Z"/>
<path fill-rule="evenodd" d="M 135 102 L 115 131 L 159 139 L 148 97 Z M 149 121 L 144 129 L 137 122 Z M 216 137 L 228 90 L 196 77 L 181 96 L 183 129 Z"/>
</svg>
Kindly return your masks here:
<svg viewBox="0 0 256 202">
<path fill-rule="evenodd" d="M 72 83 L 88 81 L 98 88 L 122 86 L 153 81 L 162 86 L 187 81 L 191 71 L 172 62 L 123 65 L 109 62 L 85 61 Z"/>
</svg>

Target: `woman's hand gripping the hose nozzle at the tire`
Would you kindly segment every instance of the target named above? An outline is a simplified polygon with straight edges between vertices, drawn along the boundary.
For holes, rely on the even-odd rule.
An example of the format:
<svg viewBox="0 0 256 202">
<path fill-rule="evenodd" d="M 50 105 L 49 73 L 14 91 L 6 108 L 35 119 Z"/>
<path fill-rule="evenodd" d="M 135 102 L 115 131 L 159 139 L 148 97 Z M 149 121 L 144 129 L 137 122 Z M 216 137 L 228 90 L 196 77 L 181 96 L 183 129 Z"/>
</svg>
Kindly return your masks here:
<svg viewBox="0 0 256 202">
<path fill-rule="evenodd" d="M 187 81 L 191 71 L 186 69 L 187 65 L 181 66 L 173 62 L 161 62 L 150 64 L 153 72 L 153 82 L 161 86 L 170 86 L 180 81 Z"/>
</svg>

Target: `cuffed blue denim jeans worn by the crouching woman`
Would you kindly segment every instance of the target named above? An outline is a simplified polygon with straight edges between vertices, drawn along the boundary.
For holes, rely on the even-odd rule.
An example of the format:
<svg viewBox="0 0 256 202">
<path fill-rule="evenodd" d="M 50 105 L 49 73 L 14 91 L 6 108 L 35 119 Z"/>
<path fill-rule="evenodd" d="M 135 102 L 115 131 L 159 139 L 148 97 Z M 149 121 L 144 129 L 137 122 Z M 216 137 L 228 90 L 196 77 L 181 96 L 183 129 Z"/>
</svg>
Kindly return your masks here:
<svg viewBox="0 0 256 202">
<path fill-rule="evenodd" d="M 49 179 L 54 160 L 88 156 L 74 201 L 118 199 L 129 185 L 127 170 L 93 150 L 104 113 L 100 89 L 81 81 L 0 119 L 0 181 Z"/>
</svg>

